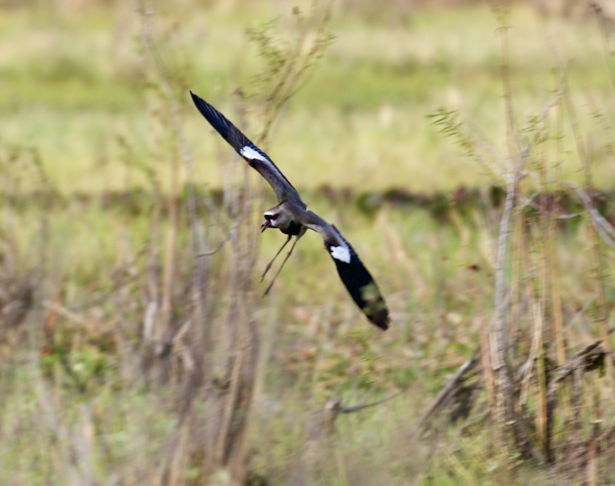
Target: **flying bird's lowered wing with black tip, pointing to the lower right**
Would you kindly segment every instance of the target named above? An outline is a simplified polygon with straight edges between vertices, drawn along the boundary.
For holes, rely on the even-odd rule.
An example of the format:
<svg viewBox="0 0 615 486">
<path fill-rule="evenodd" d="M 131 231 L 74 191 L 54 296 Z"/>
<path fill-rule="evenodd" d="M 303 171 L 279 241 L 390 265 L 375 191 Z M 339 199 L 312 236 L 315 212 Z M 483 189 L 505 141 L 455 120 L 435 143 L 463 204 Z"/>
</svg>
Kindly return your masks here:
<svg viewBox="0 0 615 486">
<path fill-rule="evenodd" d="M 382 330 L 389 328 L 389 309 L 370 272 L 359 259 L 354 248 L 344 240 L 338 229 L 313 211 L 305 211 L 301 223 L 322 236 L 327 251 L 338 269 L 348 293 L 363 314 Z"/>
</svg>

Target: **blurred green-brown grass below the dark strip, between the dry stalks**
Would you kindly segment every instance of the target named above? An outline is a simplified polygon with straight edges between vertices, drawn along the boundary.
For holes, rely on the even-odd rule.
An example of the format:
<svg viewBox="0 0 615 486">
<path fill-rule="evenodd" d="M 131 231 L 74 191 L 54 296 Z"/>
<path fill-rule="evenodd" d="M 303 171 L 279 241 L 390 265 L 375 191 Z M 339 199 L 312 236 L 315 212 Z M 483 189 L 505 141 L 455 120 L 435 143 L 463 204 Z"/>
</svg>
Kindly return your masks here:
<svg viewBox="0 0 615 486">
<path fill-rule="evenodd" d="M 147 201 L 145 197 L 141 210 Z M 250 467 L 272 484 L 292 484 L 296 474 L 307 484 L 333 484 L 334 480 L 336 484 L 364 484 L 361 478 L 367 484 L 387 484 L 392 478 L 402 484 L 413 480 L 456 484 L 460 477 L 472 478 L 476 484 L 503 480 L 501 471 L 508 458 L 491 447 L 490 427 L 467 437 L 451 431 L 436 455 L 410 438 L 421 410 L 472 354 L 480 312 L 489 312 L 492 306 L 494 235 L 480 223 L 480 211 L 462 217 L 451 208 L 449 216 L 462 218 L 462 225 L 455 225 L 443 224 L 419 207 L 386 205 L 367 216 L 354 205 L 341 211 L 337 204 L 319 198 L 314 210 L 343 229 L 378 278 L 394 325 L 387 333 L 368 326 L 339 284 L 319 235 L 308 233 L 302 238 L 272 293 L 260 299 L 255 315 L 263 341 L 271 340 L 271 351 L 265 354 L 266 383 L 255 408 Z M 57 475 L 65 458 L 36 446 L 39 435 L 45 441 L 52 440 L 48 435 L 53 437 L 47 429 L 48 418 L 41 419 L 41 405 L 34 399 L 39 378 L 32 370 L 40 367 L 52 376 L 54 407 L 73 434 L 82 429 L 89 433 L 82 424 L 87 419 L 80 414 L 83 403 L 92 408 L 92 421 L 98 428 L 87 436 L 87 451 L 97 464 L 97 477 L 120 474 L 127 482 L 136 481 L 131 479 L 135 471 L 155 462 L 156 455 L 164 451 L 176 421 L 173 397 L 134 383 L 130 373 L 135 371 L 125 370 L 131 361 L 114 349 L 119 343 L 111 337 L 116 333 L 132 343 L 140 332 L 140 304 L 130 299 L 130 305 L 118 306 L 116 299 L 120 295 L 137 299 L 140 294 L 148 265 L 142 250 L 156 244 L 151 225 L 145 216 L 130 216 L 121 203 L 71 203 L 66 210 L 46 213 L 45 208 L 34 205 L 20 213 L 20 222 L 25 223 L 16 232 L 21 260 L 32 265 L 41 257 L 40 222 L 47 221 L 46 258 L 52 262 L 46 277 L 49 299 L 72 314 L 57 318 L 53 353 L 44 354 L 36 368 L 27 365 L 20 371 L 11 357 L 3 365 L 10 373 L 0 374 L 0 389 L 10 393 L 0 399 L 6 430 L 0 445 L 0 479 L 10 484 L 21 477 L 25 484 L 45 484 L 46 477 L 50 484 L 63 484 L 62 476 Z M 167 224 L 167 219 L 161 221 L 161 233 Z M 181 230 L 177 236 L 180 248 L 188 248 L 186 232 Z M 283 238 L 278 232 L 264 232 L 259 240 L 257 275 Z M 595 325 L 585 319 L 574 322 L 571 317 L 591 301 L 594 292 L 592 275 L 578 257 L 589 245 L 582 232 L 562 233 L 557 245 L 566 269 L 561 284 L 569 331 L 587 339 L 597 332 Z M 222 250 L 220 261 L 227 251 Z M 223 285 L 228 268 L 220 261 L 214 269 Z M 469 264 L 478 271 L 470 270 Z M 609 259 L 611 271 L 612 267 Z M 122 268 L 130 269 L 125 277 L 137 278 L 120 293 L 117 285 L 122 275 L 117 272 Z M 252 277 L 255 282 L 257 275 Z M 256 283 L 255 292 L 262 289 Z M 131 346 L 136 345 L 131 344 L 124 353 L 130 354 Z M 58 354 L 70 360 L 85 392 L 76 391 L 76 378 L 67 376 L 58 365 Z M 132 360 L 139 370 L 137 356 Z M 396 389 L 405 389 L 405 393 L 371 410 L 340 416 L 337 432 L 330 439 L 315 443 L 306 439 L 306 421 L 332 394 L 353 404 L 370 402 Z M 9 434 L 15 427 L 20 433 Z M 301 469 L 310 454 L 319 458 L 319 466 L 313 471 Z M 496 476 L 494 469 L 499 471 Z M 550 484 L 543 483 L 547 472 L 540 469 L 520 469 L 518 474 L 518 482 L 507 480 L 508 484 L 526 484 L 528 478 Z"/>
</svg>

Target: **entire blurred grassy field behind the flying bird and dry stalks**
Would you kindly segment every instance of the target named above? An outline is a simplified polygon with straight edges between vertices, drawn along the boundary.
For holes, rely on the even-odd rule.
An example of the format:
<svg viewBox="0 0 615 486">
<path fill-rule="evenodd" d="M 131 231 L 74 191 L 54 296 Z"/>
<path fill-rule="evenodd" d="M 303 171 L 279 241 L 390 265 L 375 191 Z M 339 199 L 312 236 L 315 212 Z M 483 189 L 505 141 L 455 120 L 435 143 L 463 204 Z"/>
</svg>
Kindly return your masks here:
<svg viewBox="0 0 615 486">
<path fill-rule="evenodd" d="M 225 469 L 201 468 L 199 449 L 189 444 L 207 431 L 178 426 L 174 389 L 153 386 L 144 371 L 147 302 L 162 293 L 169 201 L 180 208 L 173 250 L 173 299 L 180 302 L 191 265 L 185 182 L 197 190 L 213 247 L 224 224 L 215 224 L 203 201 L 244 177 L 243 163 L 194 109 L 188 89 L 255 138 L 266 62 L 246 30 L 273 22 L 278 39 L 292 39 L 293 7 L 309 12 L 310 3 L 154 2 L 153 36 L 173 81 L 192 178 L 179 161 L 169 105 L 130 2 L 0 3 L 0 303 L 14 286 L 31 290 L 27 314 L 9 326 L 6 311 L 0 330 L 2 484 L 234 484 Z M 554 98 L 558 68 L 566 68 L 593 181 L 612 214 L 609 40 L 591 15 L 544 18 L 522 3 L 508 22 L 519 125 L 531 127 Z M 387 333 L 370 328 L 315 233 L 260 299 L 260 270 L 284 238 L 258 235 L 247 277 L 261 354 L 246 446 L 253 482 L 246 484 L 561 484 L 561 471 L 494 447 L 488 425 L 471 434 L 444 427 L 427 443 L 411 435 L 424 407 L 474 352 L 483 318 L 493 317 L 501 208 L 489 194 L 502 181 L 429 115 L 457 111 L 506 158 L 496 16 L 480 2 L 382 2 L 381 9 L 346 2 L 335 6 L 327 30 L 333 41 L 262 148 L 357 249 L 393 324 Z M 557 110 L 533 164 L 583 185 L 569 113 Z M 173 164 L 180 166 L 175 192 Z M 247 177 L 264 193 L 243 229 L 256 234 L 260 214 L 276 203 L 257 174 Z M 460 188 L 475 204 L 456 205 Z M 599 334 L 594 243 L 584 225 L 563 227 L 554 248 L 570 353 Z M 234 278 L 230 252 L 227 246 L 210 264 L 220 306 L 234 299 L 226 288 Z M 605 275 L 613 271 L 610 252 Z M 611 324 L 614 298 L 607 285 Z M 184 312 L 177 306 L 172 315 L 181 320 Z M 223 332 L 221 318 L 212 319 Z M 520 341 L 530 347 L 530 338 Z M 331 397 L 354 405 L 398 391 L 382 405 L 339 416 L 335 434 L 312 437 L 311 418 Z M 613 410 L 598 392 L 584 400 L 588 423 L 596 408 L 605 416 Z M 191 413 L 208 410 L 197 404 Z M 169 442 L 176 429 L 180 439 Z M 169 463 L 175 476 L 161 472 Z M 601 479 L 612 480 L 602 471 Z"/>
</svg>

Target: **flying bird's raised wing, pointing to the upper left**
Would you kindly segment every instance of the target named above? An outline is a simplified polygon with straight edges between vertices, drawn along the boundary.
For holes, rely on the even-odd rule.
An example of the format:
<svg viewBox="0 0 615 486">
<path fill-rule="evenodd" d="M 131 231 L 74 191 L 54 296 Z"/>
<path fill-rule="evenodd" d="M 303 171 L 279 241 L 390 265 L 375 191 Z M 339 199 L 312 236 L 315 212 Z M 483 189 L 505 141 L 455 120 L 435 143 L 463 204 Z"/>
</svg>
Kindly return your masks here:
<svg viewBox="0 0 615 486">
<path fill-rule="evenodd" d="M 288 182 L 288 179 L 284 177 L 284 174 L 282 174 L 280 169 L 277 168 L 276 164 L 273 163 L 266 153 L 256 147 L 256 145 L 242 134 L 242 132 L 234 126 L 226 116 L 220 113 L 220 111 L 216 110 L 216 108 L 212 107 L 212 105 L 205 100 L 200 99 L 192 91 L 190 94 L 200 114 L 207 119 L 223 139 L 226 140 L 229 145 L 250 164 L 250 166 L 255 168 L 258 173 L 269 182 L 280 203 L 282 201 L 293 201 L 303 208 L 306 207 L 293 185 Z"/>
</svg>

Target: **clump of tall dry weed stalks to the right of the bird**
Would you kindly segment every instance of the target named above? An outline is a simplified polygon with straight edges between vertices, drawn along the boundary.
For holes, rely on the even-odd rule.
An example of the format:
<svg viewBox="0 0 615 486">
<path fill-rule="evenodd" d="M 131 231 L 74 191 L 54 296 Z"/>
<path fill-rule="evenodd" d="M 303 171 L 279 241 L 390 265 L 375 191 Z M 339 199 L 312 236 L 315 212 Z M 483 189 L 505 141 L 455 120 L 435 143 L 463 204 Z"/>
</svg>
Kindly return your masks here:
<svg viewBox="0 0 615 486">
<path fill-rule="evenodd" d="M 487 144 L 456 113 L 442 109 L 434 115 L 434 123 L 455 137 L 506 194 L 493 243 L 493 317 L 488 335 L 480 338 L 487 403 L 498 442 L 510 460 L 555 464 L 566 480 L 584 478 L 595 484 L 605 472 L 596 444 L 606 437 L 600 431 L 603 424 L 611 423 L 615 386 L 610 378 L 613 357 L 603 275 L 605 248 L 613 248 L 613 227 L 595 205 L 587 155 L 592 150 L 577 121 L 565 68 L 558 65 L 552 100 L 538 115 L 518 122 L 509 75 L 507 15 L 501 6 L 493 9 L 501 39 L 506 150 Z M 576 142 L 585 187 L 561 180 L 562 113 Z M 571 198 L 584 208 L 582 213 L 566 213 L 562 201 Z M 566 323 L 572 315 L 566 309 L 557 240 L 558 227 L 572 218 L 583 220 L 579 232 L 587 235 L 589 251 L 579 258 L 595 283 L 595 305 L 590 306 L 595 315 L 583 316 L 588 325 L 590 320 L 597 323 L 597 333 L 589 340 Z M 607 378 L 590 373 L 595 367 Z"/>
</svg>

